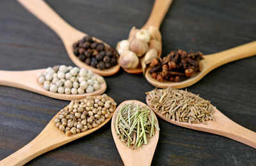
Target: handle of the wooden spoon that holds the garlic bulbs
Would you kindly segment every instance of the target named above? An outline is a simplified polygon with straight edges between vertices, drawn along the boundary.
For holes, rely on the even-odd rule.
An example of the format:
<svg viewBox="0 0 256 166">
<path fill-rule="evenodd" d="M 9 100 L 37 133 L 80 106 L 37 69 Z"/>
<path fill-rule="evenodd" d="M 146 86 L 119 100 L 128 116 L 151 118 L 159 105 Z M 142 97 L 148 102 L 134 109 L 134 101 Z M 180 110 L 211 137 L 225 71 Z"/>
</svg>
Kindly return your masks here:
<svg viewBox="0 0 256 166">
<path fill-rule="evenodd" d="M 172 4 L 172 1 L 173 0 L 155 0 L 153 9 L 143 28 L 146 28 L 148 26 L 155 26 L 159 29 L 164 19 L 164 16 L 168 11 L 168 8 Z"/>
</svg>

